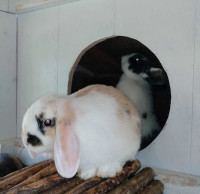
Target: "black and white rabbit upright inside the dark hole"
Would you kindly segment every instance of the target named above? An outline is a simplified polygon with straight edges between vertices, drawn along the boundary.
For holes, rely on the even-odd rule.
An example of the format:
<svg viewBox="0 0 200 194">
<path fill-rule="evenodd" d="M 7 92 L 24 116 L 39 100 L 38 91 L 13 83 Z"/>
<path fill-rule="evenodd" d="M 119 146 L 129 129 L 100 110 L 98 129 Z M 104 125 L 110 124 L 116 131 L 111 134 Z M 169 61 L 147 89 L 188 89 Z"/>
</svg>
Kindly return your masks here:
<svg viewBox="0 0 200 194">
<path fill-rule="evenodd" d="M 123 74 L 116 86 L 133 102 L 141 116 L 142 143 L 160 131 L 154 114 L 151 86 L 163 84 L 163 71 L 152 67 L 151 61 L 139 53 L 122 56 Z"/>
</svg>

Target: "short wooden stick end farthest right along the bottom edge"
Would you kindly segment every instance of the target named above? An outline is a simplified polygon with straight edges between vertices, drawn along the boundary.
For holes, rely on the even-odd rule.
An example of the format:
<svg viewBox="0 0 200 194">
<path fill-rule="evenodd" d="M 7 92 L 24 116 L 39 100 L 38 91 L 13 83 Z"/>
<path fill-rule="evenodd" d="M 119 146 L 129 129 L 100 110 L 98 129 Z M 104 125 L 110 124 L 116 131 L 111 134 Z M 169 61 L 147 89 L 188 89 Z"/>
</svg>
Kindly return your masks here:
<svg viewBox="0 0 200 194">
<path fill-rule="evenodd" d="M 137 194 L 162 194 L 164 191 L 164 184 L 159 180 L 150 182 L 142 190 L 138 191 Z"/>
</svg>

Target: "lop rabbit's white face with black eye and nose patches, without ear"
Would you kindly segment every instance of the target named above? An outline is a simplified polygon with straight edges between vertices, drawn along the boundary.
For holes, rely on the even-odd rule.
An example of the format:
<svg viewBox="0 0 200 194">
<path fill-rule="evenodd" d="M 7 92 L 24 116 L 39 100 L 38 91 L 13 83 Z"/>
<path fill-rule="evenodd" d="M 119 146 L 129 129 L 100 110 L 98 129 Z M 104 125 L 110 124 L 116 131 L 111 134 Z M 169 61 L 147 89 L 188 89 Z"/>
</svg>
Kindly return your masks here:
<svg viewBox="0 0 200 194">
<path fill-rule="evenodd" d="M 55 97 L 36 101 L 26 111 L 22 122 L 22 142 L 32 158 L 37 154 L 51 152 L 55 139 Z"/>
</svg>

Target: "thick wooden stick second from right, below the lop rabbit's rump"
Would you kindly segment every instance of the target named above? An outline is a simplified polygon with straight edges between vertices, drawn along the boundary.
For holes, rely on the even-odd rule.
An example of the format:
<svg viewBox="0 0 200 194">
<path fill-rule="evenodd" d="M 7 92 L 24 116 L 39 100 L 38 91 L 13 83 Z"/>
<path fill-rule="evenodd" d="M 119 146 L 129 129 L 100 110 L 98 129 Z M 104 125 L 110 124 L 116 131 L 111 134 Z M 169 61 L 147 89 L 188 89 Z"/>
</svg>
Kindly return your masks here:
<svg viewBox="0 0 200 194">
<path fill-rule="evenodd" d="M 144 168 L 134 177 L 119 185 L 110 194 L 136 193 L 145 187 L 155 177 L 155 172 L 151 168 Z"/>
</svg>

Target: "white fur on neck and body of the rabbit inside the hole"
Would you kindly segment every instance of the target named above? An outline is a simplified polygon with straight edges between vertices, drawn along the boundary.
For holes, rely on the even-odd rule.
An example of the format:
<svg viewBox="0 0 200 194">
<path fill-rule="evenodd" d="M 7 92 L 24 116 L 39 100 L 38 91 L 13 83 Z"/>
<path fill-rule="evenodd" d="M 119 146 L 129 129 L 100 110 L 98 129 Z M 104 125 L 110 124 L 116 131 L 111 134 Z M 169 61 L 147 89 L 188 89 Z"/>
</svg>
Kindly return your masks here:
<svg viewBox="0 0 200 194">
<path fill-rule="evenodd" d="M 151 136 L 154 130 L 160 130 L 160 126 L 154 115 L 150 84 L 143 79 L 148 77 L 148 75 L 146 73 L 138 75 L 128 69 L 130 65 L 128 60 L 134 55 L 130 54 L 122 57 L 123 74 L 116 88 L 127 95 L 137 108 L 141 115 L 142 138 L 146 138 Z M 142 118 L 143 113 L 147 113 L 146 119 Z"/>
</svg>

